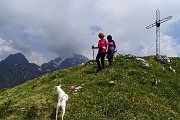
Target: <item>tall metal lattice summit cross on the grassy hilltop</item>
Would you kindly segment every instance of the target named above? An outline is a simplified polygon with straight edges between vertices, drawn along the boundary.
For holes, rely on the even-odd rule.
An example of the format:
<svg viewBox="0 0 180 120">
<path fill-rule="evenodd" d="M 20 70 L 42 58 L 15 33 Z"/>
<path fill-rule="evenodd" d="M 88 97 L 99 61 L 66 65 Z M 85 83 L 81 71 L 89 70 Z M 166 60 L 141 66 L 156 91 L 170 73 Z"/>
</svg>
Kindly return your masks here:
<svg viewBox="0 0 180 120">
<path fill-rule="evenodd" d="M 156 22 L 146 27 L 146 29 L 149 29 L 156 26 L 156 56 L 160 55 L 160 24 L 170 20 L 171 18 L 172 16 L 168 16 L 160 20 L 160 11 L 157 9 Z"/>
</svg>

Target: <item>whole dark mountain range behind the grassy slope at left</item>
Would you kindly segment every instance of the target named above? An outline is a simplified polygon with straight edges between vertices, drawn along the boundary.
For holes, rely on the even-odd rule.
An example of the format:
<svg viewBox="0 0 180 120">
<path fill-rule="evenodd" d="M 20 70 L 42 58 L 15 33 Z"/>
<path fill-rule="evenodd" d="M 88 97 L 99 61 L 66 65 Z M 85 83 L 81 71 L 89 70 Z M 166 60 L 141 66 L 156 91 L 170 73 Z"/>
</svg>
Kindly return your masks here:
<svg viewBox="0 0 180 120">
<path fill-rule="evenodd" d="M 73 54 L 70 58 L 58 57 L 38 66 L 35 63 L 29 63 L 22 53 L 10 54 L 0 62 L 0 90 L 11 88 L 46 73 L 73 67 L 87 61 L 88 58 L 85 56 Z"/>
</svg>

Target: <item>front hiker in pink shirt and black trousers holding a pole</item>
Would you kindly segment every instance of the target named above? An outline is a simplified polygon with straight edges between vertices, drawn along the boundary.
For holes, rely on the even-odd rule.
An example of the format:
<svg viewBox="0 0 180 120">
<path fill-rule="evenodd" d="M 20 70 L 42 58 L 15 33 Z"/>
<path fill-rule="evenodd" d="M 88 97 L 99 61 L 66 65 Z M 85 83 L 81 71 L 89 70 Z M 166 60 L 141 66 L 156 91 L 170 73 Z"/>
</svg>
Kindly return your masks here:
<svg viewBox="0 0 180 120">
<path fill-rule="evenodd" d="M 99 33 L 98 36 L 100 38 L 100 40 L 98 41 L 98 47 L 92 46 L 92 49 L 99 49 L 98 54 L 96 56 L 96 62 L 97 62 L 98 71 L 99 71 L 105 68 L 104 59 L 108 51 L 108 41 L 104 39 L 103 33 Z"/>
</svg>

